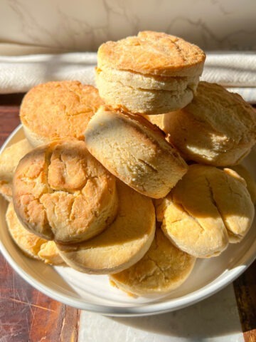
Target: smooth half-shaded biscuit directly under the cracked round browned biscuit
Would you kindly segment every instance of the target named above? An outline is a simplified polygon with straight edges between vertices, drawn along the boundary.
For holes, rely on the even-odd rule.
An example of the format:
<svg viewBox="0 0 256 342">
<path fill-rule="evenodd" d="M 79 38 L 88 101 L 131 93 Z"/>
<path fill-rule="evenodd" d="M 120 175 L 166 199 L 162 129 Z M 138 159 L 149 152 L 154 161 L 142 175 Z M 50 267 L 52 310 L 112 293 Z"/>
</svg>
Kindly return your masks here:
<svg viewBox="0 0 256 342">
<path fill-rule="evenodd" d="M 135 264 L 154 239 L 156 217 L 148 197 L 117 182 L 118 214 L 97 237 L 76 245 L 57 244 L 66 263 L 87 274 L 112 274 Z"/>
</svg>

